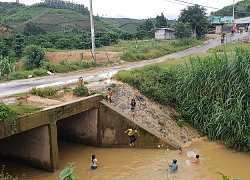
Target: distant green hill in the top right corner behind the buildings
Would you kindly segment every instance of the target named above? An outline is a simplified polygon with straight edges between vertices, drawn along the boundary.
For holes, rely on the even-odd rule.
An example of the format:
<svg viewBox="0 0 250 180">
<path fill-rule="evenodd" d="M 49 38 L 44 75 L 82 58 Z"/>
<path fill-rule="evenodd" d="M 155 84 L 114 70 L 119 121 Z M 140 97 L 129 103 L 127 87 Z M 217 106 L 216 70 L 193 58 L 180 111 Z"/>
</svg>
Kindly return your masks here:
<svg viewBox="0 0 250 180">
<path fill-rule="evenodd" d="M 222 9 L 211 12 L 213 16 L 233 16 L 233 5 L 225 6 Z M 242 18 L 250 16 L 250 0 L 239 1 L 234 5 L 234 17 Z"/>
</svg>

